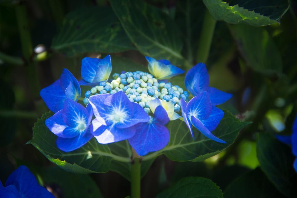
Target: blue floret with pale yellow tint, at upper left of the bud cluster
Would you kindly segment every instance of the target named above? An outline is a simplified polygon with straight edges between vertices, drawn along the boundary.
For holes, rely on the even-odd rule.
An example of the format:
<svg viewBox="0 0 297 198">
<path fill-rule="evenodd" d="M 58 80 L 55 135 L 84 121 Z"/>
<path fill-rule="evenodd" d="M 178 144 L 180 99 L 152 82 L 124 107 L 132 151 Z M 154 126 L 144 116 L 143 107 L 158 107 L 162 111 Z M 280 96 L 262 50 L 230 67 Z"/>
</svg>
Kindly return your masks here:
<svg viewBox="0 0 297 198">
<path fill-rule="evenodd" d="M 79 84 L 98 85 L 99 82 L 108 80 L 111 69 L 110 55 L 103 59 L 85 57 L 81 61 L 80 73 L 83 79 L 79 81 Z"/>
</svg>

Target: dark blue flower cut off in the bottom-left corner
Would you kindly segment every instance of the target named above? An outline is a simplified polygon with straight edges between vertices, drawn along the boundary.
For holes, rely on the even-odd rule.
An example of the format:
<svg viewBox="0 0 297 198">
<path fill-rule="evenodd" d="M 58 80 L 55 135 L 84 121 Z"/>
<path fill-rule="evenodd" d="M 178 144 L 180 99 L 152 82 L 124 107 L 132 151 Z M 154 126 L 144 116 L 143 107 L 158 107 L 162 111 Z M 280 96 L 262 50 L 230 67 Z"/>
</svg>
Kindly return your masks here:
<svg viewBox="0 0 297 198">
<path fill-rule="evenodd" d="M 54 198 L 45 188 L 40 186 L 30 172 L 21 165 L 7 178 L 5 187 L 0 181 L 0 197 L 5 198 Z"/>
</svg>

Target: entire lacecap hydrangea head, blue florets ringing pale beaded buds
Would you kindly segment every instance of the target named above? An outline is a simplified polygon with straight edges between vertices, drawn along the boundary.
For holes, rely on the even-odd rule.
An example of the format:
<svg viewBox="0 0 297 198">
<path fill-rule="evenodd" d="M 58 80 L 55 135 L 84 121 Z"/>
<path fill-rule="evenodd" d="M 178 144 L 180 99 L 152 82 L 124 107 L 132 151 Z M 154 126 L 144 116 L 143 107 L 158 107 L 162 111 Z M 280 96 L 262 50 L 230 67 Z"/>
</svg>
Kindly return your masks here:
<svg viewBox="0 0 297 198">
<path fill-rule="evenodd" d="M 59 149 L 73 151 L 95 137 L 100 144 L 128 140 L 143 156 L 168 144 L 166 124 L 176 119 L 185 121 L 193 138 L 192 125 L 211 140 L 226 143 L 211 133 L 224 116 L 214 105 L 226 102 L 232 95 L 208 86 L 206 66 L 199 63 L 187 72 L 185 87 L 193 96 L 189 100 L 188 91 L 168 82 L 184 70 L 168 60 L 146 59 L 150 73 L 115 73 L 111 80 L 109 55 L 103 59 L 86 57 L 82 60 L 82 80 L 77 81 L 64 69 L 60 79 L 40 91 L 55 113 L 45 124 L 58 136 Z M 79 85 L 92 87 L 83 99 L 86 108 L 77 102 Z"/>
</svg>

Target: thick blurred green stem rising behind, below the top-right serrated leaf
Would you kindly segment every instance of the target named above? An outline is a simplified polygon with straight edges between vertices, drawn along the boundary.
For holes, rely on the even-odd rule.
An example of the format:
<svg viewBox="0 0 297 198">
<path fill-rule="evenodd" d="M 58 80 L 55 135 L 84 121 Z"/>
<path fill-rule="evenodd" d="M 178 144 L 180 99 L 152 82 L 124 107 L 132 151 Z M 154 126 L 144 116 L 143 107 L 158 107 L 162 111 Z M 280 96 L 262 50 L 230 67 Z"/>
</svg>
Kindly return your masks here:
<svg viewBox="0 0 297 198">
<path fill-rule="evenodd" d="M 202 25 L 202 31 L 198 43 L 199 47 L 197 51 L 196 62 L 206 63 L 216 23 L 217 20 L 214 20 L 214 18 L 212 18 L 212 16 L 210 15 L 209 11 L 206 9 Z"/>
</svg>

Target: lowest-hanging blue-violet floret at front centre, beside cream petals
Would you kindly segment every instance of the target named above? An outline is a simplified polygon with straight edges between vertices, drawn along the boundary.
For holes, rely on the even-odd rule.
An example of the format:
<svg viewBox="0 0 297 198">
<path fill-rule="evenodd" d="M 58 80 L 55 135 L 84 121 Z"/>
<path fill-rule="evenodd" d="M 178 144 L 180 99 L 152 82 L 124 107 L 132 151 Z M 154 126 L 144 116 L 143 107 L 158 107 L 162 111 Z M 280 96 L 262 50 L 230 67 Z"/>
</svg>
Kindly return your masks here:
<svg viewBox="0 0 297 198">
<path fill-rule="evenodd" d="M 159 151 L 168 144 L 170 138 L 169 131 L 164 126 L 169 122 L 169 117 L 159 99 L 152 100 L 150 108 L 154 117 L 150 118 L 149 122 L 135 125 L 136 133 L 128 140 L 140 156 Z"/>
</svg>

